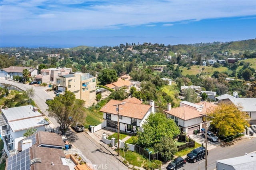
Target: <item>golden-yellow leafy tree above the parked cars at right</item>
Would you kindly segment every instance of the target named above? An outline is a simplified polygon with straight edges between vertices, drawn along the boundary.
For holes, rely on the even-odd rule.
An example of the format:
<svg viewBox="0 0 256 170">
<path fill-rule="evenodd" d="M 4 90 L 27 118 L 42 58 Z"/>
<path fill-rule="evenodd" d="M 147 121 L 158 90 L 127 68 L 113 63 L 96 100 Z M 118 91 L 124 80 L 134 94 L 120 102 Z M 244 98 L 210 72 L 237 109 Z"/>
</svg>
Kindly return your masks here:
<svg viewBox="0 0 256 170">
<path fill-rule="evenodd" d="M 222 103 L 212 110 L 209 114 L 213 117 L 211 125 L 218 129 L 218 135 L 228 137 L 244 132 L 245 126 L 249 126 L 249 117 L 240 109 L 239 105 Z"/>
</svg>

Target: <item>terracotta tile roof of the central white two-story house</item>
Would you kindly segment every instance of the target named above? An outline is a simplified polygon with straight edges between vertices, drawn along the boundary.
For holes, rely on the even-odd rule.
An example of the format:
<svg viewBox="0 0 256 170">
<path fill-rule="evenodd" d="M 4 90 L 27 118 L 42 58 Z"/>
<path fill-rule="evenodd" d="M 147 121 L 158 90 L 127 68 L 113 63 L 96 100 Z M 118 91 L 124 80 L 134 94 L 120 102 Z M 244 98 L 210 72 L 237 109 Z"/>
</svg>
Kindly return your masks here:
<svg viewBox="0 0 256 170">
<path fill-rule="evenodd" d="M 112 99 L 100 111 L 117 115 L 116 107 L 113 105 L 121 104 L 122 102 Z M 150 105 L 126 102 L 124 105 L 119 106 L 119 114 L 125 117 L 142 119 L 148 113 L 150 107 Z"/>
</svg>

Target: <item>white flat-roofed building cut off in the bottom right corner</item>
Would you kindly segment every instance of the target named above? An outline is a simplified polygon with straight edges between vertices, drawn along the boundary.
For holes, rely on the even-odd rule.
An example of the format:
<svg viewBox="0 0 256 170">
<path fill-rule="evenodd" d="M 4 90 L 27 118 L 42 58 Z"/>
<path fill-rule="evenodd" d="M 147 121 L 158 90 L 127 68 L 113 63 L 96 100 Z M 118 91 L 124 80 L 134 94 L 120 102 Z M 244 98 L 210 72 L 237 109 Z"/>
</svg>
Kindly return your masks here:
<svg viewBox="0 0 256 170">
<path fill-rule="evenodd" d="M 216 160 L 216 170 L 255 170 L 256 152 L 228 158 Z"/>
</svg>

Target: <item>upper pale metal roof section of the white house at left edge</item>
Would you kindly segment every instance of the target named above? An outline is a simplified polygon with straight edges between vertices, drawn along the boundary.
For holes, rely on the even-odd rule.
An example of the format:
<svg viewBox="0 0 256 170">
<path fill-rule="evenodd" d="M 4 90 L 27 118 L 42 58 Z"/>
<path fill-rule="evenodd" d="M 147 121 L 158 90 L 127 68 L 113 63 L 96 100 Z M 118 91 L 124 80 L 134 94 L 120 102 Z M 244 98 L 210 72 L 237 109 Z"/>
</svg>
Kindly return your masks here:
<svg viewBox="0 0 256 170">
<path fill-rule="evenodd" d="M 2 109 L 2 113 L 8 122 L 42 116 L 38 111 L 33 111 L 32 105 Z"/>
</svg>

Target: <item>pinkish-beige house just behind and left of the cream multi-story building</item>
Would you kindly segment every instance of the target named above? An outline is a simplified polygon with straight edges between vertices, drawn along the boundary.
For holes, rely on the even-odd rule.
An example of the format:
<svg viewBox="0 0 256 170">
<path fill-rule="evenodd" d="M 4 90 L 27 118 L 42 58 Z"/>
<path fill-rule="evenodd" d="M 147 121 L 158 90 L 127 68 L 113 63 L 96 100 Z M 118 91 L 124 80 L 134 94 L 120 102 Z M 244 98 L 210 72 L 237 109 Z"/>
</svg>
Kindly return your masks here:
<svg viewBox="0 0 256 170">
<path fill-rule="evenodd" d="M 49 68 L 42 69 L 39 75 L 36 75 L 35 81 L 40 81 L 41 83 L 56 83 L 56 77 L 61 75 L 67 75 L 72 72 L 72 68 Z"/>
</svg>

